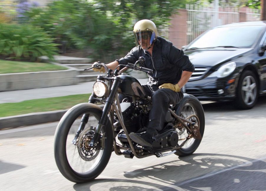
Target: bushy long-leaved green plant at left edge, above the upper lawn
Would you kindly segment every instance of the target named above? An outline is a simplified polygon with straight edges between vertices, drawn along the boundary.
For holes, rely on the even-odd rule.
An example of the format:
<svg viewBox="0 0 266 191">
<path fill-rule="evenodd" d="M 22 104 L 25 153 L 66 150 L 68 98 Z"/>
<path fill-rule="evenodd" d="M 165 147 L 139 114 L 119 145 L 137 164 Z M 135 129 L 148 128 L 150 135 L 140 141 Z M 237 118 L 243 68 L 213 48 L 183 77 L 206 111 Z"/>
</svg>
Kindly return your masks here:
<svg viewBox="0 0 266 191">
<path fill-rule="evenodd" d="M 52 59 L 57 44 L 42 29 L 31 25 L 0 24 L 0 55 L 36 61 L 46 55 Z"/>
</svg>

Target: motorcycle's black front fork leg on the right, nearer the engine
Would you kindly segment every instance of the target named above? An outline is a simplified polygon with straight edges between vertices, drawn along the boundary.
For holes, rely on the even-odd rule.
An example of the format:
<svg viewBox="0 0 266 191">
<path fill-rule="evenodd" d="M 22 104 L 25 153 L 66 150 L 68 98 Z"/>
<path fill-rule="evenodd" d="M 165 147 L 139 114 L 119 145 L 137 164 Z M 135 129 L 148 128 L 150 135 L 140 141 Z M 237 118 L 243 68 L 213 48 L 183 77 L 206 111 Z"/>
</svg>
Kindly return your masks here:
<svg viewBox="0 0 266 191">
<path fill-rule="evenodd" d="M 103 113 L 102 113 L 101 118 L 99 120 L 96 133 L 94 135 L 94 141 L 93 141 L 94 145 L 97 144 L 97 142 L 99 142 L 99 137 L 100 137 L 100 133 L 101 133 L 102 127 L 106 124 L 106 121 L 108 120 L 107 115 L 108 115 L 108 113 L 110 111 L 111 105 L 114 102 L 114 97 L 116 95 L 118 86 L 121 83 L 121 81 L 122 81 L 122 79 L 119 78 L 118 76 L 116 76 L 114 78 L 114 83 L 113 83 L 113 85 L 111 87 L 110 95 L 106 99 L 106 103 L 104 105 Z"/>
</svg>

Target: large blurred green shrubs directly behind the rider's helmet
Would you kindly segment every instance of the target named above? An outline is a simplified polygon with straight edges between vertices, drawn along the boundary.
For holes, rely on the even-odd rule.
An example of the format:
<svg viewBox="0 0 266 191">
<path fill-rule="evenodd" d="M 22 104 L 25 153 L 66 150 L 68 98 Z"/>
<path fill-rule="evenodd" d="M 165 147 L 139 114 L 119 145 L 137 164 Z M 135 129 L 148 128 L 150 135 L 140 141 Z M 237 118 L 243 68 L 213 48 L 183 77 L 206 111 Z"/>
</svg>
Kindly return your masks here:
<svg viewBox="0 0 266 191">
<path fill-rule="evenodd" d="M 184 8 L 178 0 L 59 0 L 45 8 L 32 8 L 26 16 L 34 26 L 44 28 L 56 43 L 68 48 L 93 48 L 93 58 L 117 59 L 134 47 L 133 26 L 151 19 L 158 29 L 169 24 L 170 15 Z M 159 34 L 160 35 L 160 34 Z"/>
</svg>

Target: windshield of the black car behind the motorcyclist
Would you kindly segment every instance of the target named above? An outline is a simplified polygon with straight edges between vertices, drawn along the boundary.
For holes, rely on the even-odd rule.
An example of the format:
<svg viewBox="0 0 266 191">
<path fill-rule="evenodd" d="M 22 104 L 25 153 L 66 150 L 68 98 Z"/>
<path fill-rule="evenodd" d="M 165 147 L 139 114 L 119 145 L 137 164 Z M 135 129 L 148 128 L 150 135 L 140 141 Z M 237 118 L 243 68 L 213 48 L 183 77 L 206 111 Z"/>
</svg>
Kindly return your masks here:
<svg viewBox="0 0 266 191">
<path fill-rule="evenodd" d="M 205 32 L 187 49 L 237 47 L 251 48 L 264 26 L 218 27 Z"/>
</svg>

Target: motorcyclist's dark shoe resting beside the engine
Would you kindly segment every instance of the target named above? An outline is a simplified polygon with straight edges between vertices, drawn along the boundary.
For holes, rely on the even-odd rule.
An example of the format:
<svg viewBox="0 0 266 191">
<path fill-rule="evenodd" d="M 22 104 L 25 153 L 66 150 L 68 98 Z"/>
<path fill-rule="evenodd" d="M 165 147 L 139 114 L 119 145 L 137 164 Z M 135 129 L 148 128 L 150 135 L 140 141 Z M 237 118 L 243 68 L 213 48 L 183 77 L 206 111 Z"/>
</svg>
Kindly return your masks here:
<svg viewBox="0 0 266 191">
<path fill-rule="evenodd" d="M 132 141 L 140 144 L 141 146 L 152 147 L 152 142 L 157 141 L 155 136 L 145 132 L 145 133 L 130 133 L 129 137 Z"/>
</svg>

